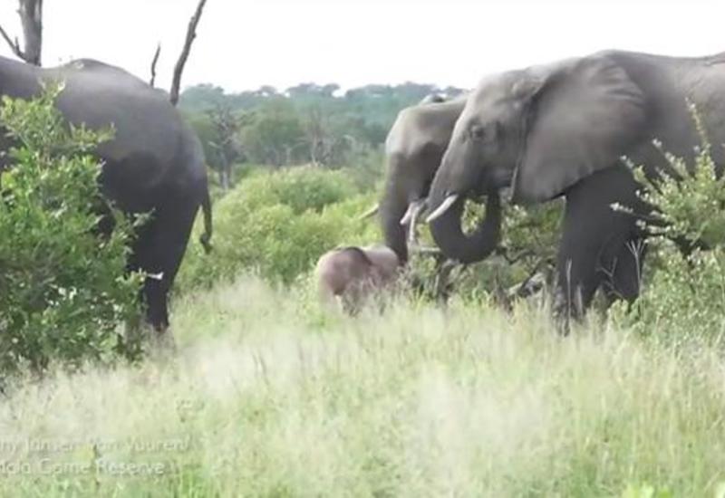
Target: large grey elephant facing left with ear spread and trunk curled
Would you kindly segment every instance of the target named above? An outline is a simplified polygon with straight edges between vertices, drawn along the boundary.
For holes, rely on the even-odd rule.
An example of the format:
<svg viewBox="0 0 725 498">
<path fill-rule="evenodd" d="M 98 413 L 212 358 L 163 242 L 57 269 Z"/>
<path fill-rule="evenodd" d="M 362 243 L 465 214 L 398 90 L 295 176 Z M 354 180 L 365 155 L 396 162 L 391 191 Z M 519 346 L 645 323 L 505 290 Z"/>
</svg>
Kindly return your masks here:
<svg viewBox="0 0 725 498">
<path fill-rule="evenodd" d="M 480 82 L 456 123 L 430 192 L 430 228 L 445 254 L 474 261 L 486 247 L 460 230 L 459 206 L 481 189 L 512 187 L 512 201 L 565 196 L 557 256 L 557 304 L 585 311 L 600 285 L 610 297 L 639 293 L 644 206 L 623 163 L 655 177 L 662 147 L 692 163 L 700 137 L 688 102 L 701 113 L 712 157 L 725 165 L 725 53 L 675 58 L 609 51 Z M 634 215 L 614 211 L 618 203 Z"/>
</svg>

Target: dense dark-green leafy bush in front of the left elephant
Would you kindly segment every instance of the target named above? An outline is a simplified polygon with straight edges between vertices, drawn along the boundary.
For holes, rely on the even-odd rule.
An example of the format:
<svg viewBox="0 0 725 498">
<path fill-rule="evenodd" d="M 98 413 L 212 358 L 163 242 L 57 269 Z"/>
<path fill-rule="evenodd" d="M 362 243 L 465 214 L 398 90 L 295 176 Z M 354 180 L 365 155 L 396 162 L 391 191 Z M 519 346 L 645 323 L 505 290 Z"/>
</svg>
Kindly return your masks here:
<svg viewBox="0 0 725 498">
<path fill-rule="evenodd" d="M 111 133 L 65 127 L 60 91 L 5 98 L 0 110 L 17 144 L 0 176 L 0 374 L 133 352 L 117 333 L 138 313 L 140 277 L 124 273 L 131 222 L 112 211 L 112 235 L 95 233 L 100 165 L 89 152 Z"/>
</svg>

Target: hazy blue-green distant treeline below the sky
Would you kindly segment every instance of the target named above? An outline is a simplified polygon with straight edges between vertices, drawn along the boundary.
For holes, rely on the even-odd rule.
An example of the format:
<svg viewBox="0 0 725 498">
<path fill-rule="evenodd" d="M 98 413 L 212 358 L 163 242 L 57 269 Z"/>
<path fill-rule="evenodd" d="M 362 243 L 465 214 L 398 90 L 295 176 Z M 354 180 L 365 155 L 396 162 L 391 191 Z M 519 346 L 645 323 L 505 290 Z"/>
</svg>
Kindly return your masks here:
<svg viewBox="0 0 725 498">
<path fill-rule="evenodd" d="M 202 84 L 184 91 L 179 107 L 204 143 L 209 166 L 225 183 L 225 172 L 240 162 L 350 164 L 357 155 L 380 148 L 401 109 L 430 93 L 462 91 L 407 82 L 348 91 L 334 83 L 303 83 L 285 91 L 263 86 L 227 93 Z"/>
</svg>

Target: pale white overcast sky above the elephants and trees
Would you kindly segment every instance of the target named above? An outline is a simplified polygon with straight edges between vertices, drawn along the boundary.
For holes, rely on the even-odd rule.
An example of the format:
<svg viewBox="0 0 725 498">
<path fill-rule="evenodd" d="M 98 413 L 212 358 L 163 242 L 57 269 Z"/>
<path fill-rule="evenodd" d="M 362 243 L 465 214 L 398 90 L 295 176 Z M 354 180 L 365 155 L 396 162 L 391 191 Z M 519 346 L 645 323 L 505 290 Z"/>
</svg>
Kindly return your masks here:
<svg viewBox="0 0 725 498">
<path fill-rule="evenodd" d="M 92 57 L 168 88 L 197 0 L 45 0 L 43 64 Z M 20 34 L 16 0 L 0 24 Z M 0 43 L 2 41 L 0 40 Z M 606 48 L 725 52 L 725 0 L 208 0 L 184 86 L 471 87 L 489 72 Z M 9 55 L 5 44 L 0 54 Z"/>
</svg>

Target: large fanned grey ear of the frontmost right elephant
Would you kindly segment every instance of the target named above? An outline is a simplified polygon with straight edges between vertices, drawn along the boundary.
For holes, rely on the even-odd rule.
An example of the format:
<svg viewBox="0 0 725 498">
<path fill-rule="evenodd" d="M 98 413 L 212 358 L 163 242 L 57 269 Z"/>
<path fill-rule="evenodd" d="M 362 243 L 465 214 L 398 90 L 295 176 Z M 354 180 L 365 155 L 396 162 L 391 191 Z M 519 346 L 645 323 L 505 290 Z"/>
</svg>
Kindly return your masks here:
<svg viewBox="0 0 725 498">
<path fill-rule="evenodd" d="M 613 166 L 641 138 L 643 92 L 606 56 L 579 59 L 539 84 L 519 86 L 533 93 L 514 202 L 543 202 L 561 194 Z"/>
</svg>

